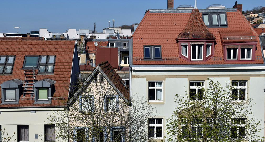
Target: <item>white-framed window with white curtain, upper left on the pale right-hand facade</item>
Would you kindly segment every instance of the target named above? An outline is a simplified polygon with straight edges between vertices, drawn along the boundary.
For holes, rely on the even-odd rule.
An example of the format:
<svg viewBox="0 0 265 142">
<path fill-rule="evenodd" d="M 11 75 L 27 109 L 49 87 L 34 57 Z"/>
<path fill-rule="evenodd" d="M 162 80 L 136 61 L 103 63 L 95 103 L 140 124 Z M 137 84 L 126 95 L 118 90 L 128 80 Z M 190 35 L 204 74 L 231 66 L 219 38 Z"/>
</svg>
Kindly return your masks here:
<svg viewBox="0 0 265 142">
<path fill-rule="evenodd" d="M 163 81 L 148 81 L 148 100 L 163 101 Z"/>
</svg>

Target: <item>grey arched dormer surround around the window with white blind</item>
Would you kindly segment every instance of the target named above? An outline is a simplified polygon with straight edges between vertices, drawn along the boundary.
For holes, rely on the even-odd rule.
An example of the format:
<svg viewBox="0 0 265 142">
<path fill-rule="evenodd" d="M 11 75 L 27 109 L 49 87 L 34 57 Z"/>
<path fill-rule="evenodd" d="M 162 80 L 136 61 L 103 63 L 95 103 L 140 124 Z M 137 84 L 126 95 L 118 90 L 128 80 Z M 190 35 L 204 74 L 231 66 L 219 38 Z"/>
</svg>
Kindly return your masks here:
<svg viewBox="0 0 265 142">
<path fill-rule="evenodd" d="M 1 85 L 1 92 L 2 92 L 2 103 L 1 104 L 18 104 L 19 96 L 22 91 L 23 81 L 19 79 L 13 79 L 3 82 Z M 6 100 L 6 89 L 15 89 L 15 96 L 14 100 Z"/>
</svg>

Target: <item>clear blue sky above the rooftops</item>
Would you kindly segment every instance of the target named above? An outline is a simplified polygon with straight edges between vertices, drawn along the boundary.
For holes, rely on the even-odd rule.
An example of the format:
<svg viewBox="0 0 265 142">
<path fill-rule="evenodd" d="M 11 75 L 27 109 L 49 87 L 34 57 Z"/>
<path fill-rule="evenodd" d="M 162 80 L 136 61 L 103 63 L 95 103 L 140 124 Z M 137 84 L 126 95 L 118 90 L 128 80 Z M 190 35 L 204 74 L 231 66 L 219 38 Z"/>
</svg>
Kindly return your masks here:
<svg viewBox="0 0 265 142">
<path fill-rule="evenodd" d="M 232 8 L 235 0 L 197 0 L 199 9 L 211 4 L 222 4 Z M 174 0 L 174 9 L 182 4 L 194 6 L 195 0 Z M 264 0 L 237 0 L 243 4 L 243 11 L 257 6 L 265 6 Z M 71 29 L 94 30 L 102 32 L 114 19 L 114 26 L 139 23 L 147 9 L 166 9 L 167 0 L 2 0 L 0 9 L 0 33 L 16 33 L 14 27 L 20 27 L 18 33 L 38 31 L 47 28 L 49 32 L 64 33 Z"/>
</svg>

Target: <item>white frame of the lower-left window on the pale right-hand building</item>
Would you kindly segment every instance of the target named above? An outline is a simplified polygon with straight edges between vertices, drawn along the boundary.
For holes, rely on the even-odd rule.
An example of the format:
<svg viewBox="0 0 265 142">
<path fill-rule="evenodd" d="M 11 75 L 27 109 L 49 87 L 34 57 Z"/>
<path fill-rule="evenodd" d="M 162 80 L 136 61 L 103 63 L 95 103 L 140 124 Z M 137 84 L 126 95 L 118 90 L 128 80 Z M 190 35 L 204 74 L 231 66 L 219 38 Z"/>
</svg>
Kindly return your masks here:
<svg viewBox="0 0 265 142">
<path fill-rule="evenodd" d="M 162 124 L 160 122 L 162 122 Z M 160 124 L 158 124 L 160 123 Z M 148 138 L 154 138 L 154 139 L 163 139 L 164 138 L 164 119 L 163 118 L 149 118 L 148 119 Z M 154 137 L 150 137 L 150 128 L 154 127 Z M 162 137 L 157 137 L 157 127 L 162 128 Z"/>
</svg>

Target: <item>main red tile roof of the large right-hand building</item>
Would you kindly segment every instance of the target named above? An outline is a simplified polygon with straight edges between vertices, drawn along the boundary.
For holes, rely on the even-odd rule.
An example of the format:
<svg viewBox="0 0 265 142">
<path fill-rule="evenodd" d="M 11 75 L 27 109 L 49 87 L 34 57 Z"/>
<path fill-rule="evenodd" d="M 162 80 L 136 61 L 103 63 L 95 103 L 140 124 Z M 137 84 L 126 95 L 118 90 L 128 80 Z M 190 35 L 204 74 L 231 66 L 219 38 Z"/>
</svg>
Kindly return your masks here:
<svg viewBox="0 0 265 142">
<path fill-rule="evenodd" d="M 200 13 L 201 14 L 201 13 Z M 136 60 L 143 59 L 144 45 L 161 45 L 162 58 L 179 57 L 176 38 L 187 25 L 191 13 L 160 13 L 147 11 L 133 34 L 133 64 L 134 65 L 194 65 L 194 64 L 255 64 L 264 63 L 262 58 L 255 61 L 229 61 L 223 59 L 223 42 L 225 36 L 253 36 L 254 39 L 230 40 L 231 42 L 257 42 L 255 56 L 262 56 L 258 34 L 239 11 L 226 12 L 228 27 L 208 28 L 216 38 L 214 57 L 222 60 L 207 60 L 206 62 L 188 62 L 179 60 Z M 223 35 L 222 35 L 223 34 Z M 225 40 L 224 40 L 225 41 Z"/>
</svg>

